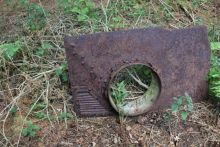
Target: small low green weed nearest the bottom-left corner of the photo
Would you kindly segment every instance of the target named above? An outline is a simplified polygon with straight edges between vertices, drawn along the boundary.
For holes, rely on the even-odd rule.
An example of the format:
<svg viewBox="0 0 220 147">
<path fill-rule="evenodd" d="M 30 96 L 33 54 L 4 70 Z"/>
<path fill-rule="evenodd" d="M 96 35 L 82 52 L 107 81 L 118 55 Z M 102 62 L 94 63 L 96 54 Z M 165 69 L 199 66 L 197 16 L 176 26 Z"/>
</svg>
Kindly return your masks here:
<svg viewBox="0 0 220 147">
<path fill-rule="evenodd" d="M 41 130 L 41 127 L 33 124 L 32 121 L 27 122 L 27 126 L 23 128 L 21 134 L 24 137 L 35 137 L 36 133 Z"/>
</svg>

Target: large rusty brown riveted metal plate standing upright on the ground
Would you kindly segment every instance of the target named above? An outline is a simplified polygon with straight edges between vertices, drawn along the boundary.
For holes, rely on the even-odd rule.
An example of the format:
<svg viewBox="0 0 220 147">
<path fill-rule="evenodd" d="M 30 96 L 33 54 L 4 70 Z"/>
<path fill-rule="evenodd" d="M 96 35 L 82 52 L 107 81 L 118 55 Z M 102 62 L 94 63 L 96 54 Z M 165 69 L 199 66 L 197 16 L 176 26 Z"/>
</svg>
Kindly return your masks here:
<svg viewBox="0 0 220 147">
<path fill-rule="evenodd" d="M 165 30 L 135 29 L 65 37 L 74 109 L 79 116 L 114 114 L 107 96 L 112 73 L 132 63 L 149 65 L 161 93 L 151 110 L 166 108 L 188 92 L 193 101 L 207 96 L 210 45 L 204 26 Z"/>
</svg>

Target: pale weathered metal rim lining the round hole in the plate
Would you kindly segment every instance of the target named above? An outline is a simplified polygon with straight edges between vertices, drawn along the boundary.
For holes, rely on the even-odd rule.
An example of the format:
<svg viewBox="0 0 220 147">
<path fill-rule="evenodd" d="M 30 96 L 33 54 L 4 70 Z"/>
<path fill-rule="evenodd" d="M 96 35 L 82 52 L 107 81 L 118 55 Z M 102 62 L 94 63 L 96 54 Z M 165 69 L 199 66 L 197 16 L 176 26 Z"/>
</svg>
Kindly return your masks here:
<svg viewBox="0 0 220 147">
<path fill-rule="evenodd" d="M 146 97 L 142 97 L 136 100 L 133 100 L 131 102 L 128 102 L 127 104 L 123 106 L 117 106 L 115 101 L 113 100 L 111 96 L 111 84 L 114 81 L 115 76 L 122 71 L 123 69 L 126 69 L 131 66 L 136 65 L 143 65 L 144 67 L 150 69 L 151 71 L 151 83 L 149 85 L 149 89 L 146 91 Z M 133 63 L 129 65 L 122 66 L 117 71 L 113 72 L 111 75 L 111 79 L 109 81 L 108 85 L 108 98 L 110 101 L 110 104 L 112 107 L 119 113 L 124 116 L 137 116 L 146 113 L 150 110 L 150 108 L 153 106 L 153 104 L 157 101 L 161 91 L 161 81 L 158 76 L 158 74 L 148 65 L 142 64 L 142 63 Z"/>
</svg>

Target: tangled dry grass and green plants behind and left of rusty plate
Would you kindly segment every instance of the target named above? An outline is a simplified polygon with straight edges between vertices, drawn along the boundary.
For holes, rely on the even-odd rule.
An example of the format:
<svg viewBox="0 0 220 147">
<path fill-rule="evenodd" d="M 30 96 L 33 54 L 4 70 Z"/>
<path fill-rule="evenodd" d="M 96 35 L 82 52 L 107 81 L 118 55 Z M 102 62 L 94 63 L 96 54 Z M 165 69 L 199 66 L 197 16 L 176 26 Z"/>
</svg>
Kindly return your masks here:
<svg viewBox="0 0 220 147">
<path fill-rule="evenodd" d="M 210 41 L 220 41 L 219 9 L 211 1 L 59 2 L 0 2 L 0 146 L 27 145 L 37 138 L 48 145 L 48 139 L 57 140 L 55 136 L 62 134 L 55 130 L 78 122 L 69 102 L 64 35 L 202 24 L 208 26 Z M 192 121 L 207 126 L 199 118 L 208 110 L 199 112 Z M 41 130 L 27 141 L 22 130 L 30 120 Z"/>
</svg>

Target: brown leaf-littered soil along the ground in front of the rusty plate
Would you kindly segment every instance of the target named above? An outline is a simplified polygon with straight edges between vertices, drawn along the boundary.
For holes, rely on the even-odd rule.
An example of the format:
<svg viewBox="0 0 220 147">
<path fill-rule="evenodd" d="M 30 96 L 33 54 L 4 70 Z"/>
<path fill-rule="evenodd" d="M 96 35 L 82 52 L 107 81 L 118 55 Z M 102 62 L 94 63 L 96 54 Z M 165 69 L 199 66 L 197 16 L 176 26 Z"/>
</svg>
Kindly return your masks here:
<svg viewBox="0 0 220 147">
<path fill-rule="evenodd" d="M 207 103 L 195 104 L 195 111 L 207 113 L 210 109 Z M 122 123 L 119 123 L 118 117 L 79 118 L 76 121 L 69 121 L 65 133 L 58 140 L 50 139 L 49 144 L 57 147 L 217 147 L 220 145 L 220 121 L 215 124 L 214 115 L 198 116 L 194 113 L 187 122 L 183 122 L 178 117 L 166 120 L 164 114 L 165 112 L 151 112 L 143 116 L 125 118 Z"/>
</svg>

